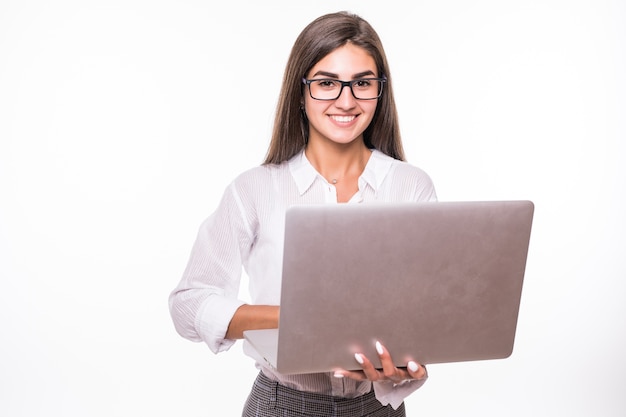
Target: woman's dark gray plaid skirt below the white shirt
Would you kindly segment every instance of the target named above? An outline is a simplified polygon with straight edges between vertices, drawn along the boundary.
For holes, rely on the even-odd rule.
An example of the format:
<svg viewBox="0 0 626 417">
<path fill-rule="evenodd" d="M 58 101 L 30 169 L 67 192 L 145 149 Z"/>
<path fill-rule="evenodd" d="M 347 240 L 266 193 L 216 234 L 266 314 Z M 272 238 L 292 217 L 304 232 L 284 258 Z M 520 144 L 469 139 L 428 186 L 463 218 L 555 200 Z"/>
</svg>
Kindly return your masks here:
<svg viewBox="0 0 626 417">
<path fill-rule="evenodd" d="M 383 406 L 374 391 L 356 398 L 331 397 L 287 388 L 259 373 L 242 417 L 405 417 L 404 404 Z"/>
</svg>

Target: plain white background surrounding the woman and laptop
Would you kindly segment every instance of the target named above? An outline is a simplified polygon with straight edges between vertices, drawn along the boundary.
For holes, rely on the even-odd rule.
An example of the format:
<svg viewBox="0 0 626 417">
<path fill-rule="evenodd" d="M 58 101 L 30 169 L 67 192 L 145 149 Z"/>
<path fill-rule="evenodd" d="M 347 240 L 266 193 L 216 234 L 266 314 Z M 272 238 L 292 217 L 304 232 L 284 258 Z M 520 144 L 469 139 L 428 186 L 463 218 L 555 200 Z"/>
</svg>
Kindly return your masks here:
<svg viewBox="0 0 626 417">
<path fill-rule="evenodd" d="M 625 3 L 1 0 L 0 414 L 239 415 L 251 360 L 167 296 L 295 37 L 348 9 L 440 199 L 536 204 L 513 355 L 431 366 L 409 416 L 626 415 Z"/>
</svg>

